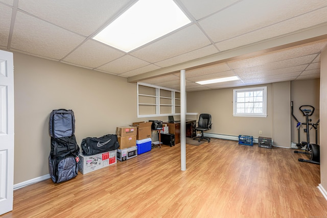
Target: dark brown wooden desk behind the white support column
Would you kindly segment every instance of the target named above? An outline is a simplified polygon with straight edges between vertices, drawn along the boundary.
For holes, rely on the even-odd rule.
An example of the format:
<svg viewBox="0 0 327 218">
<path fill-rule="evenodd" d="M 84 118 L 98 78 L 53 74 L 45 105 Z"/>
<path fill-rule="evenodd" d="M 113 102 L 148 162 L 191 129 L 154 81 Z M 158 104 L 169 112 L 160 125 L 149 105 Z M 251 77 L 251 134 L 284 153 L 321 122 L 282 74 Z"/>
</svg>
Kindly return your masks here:
<svg viewBox="0 0 327 218">
<path fill-rule="evenodd" d="M 196 120 L 194 119 L 186 119 L 186 137 L 193 138 L 196 136 L 196 131 L 194 130 L 196 125 Z M 167 124 L 169 133 L 175 135 L 175 144 L 180 143 L 180 123 L 168 123 Z"/>
</svg>

